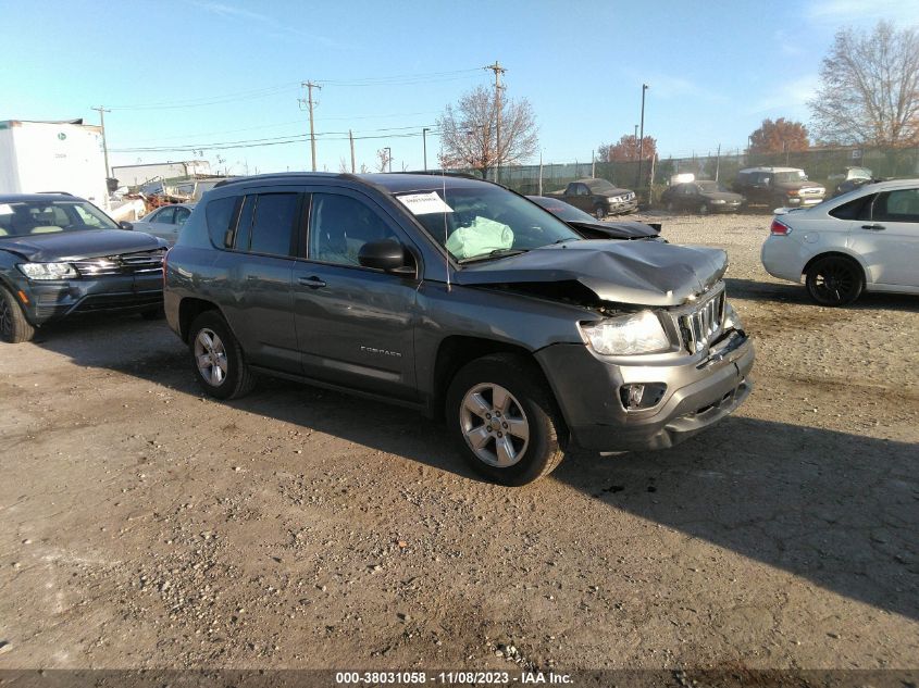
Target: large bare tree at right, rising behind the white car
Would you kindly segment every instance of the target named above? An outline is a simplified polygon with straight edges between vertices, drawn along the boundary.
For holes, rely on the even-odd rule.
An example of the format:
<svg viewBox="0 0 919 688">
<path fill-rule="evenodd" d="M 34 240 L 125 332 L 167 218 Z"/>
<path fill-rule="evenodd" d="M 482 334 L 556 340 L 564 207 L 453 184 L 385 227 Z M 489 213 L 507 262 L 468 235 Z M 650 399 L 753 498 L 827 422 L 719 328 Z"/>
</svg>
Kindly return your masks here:
<svg viewBox="0 0 919 688">
<path fill-rule="evenodd" d="M 809 103 L 821 141 L 919 143 L 919 33 L 879 22 L 870 34 L 836 33 Z"/>
</svg>

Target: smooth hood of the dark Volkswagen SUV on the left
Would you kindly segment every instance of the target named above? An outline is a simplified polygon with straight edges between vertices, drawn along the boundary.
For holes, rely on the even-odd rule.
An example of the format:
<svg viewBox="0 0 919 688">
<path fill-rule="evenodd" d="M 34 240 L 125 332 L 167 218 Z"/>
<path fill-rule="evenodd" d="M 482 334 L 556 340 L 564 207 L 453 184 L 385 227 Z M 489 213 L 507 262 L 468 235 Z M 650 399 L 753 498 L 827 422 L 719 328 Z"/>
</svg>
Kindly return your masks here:
<svg viewBox="0 0 919 688">
<path fill-rule="evenodd" d="M 0 238 L 0 250 L 12 251 L 26 260 L 41 263 L 152 251 L 166 246 L 165 241 L 149 234 L 128 229 L 57 232 Z"/>
</svg>

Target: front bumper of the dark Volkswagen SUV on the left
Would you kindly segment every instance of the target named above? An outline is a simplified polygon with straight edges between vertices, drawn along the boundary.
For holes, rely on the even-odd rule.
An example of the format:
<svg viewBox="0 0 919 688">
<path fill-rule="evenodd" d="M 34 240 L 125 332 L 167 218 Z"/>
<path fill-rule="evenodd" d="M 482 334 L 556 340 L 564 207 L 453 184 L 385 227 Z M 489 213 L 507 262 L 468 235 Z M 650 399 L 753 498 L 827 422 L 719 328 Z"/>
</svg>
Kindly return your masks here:
<svg viewBox="0 0 919 688">
<path fill-rule="evenodd" d="M 161 274 L 108 275 L 61 282 L 25 282 L 17 285 L 28 299 L 26 320 L 34 326 L 83 313 L 140 311 L 161 307 Z"/>
</svg>

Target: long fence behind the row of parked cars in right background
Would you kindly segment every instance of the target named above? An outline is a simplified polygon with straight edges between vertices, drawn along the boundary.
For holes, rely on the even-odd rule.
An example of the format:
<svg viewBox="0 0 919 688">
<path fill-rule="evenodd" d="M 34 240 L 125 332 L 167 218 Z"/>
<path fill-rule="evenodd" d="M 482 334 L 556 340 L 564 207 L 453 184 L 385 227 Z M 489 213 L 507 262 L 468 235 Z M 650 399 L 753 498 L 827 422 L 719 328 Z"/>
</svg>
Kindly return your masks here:
<svg viewBox="0 0 919 688">
<path fill-rule="evenodd" d="M 710 155 L 687 158 L 658 158 L 645 160 L 641 176 L 637 161 L 625 162 L 573 162 L 544 163 L 543 165 L 508 165 L 488 172 L 488 178 L 496 177 L 507 187 L 520 193 L 559 191 L 570 182 L 584 177 L 607 179 L 616 186 L 635 189 L 647 199 L 657 200 L 670 177 L 680 173 L 692 173 L 697 179 L 718 179 L 726 186 L 746 167 L 782 166 L 804 170 L 808 177 L 828 186 L 836 182 L 830 177 L 843 174 L 846 167 L 868 167 L 875 177 L 919 177 L 919 148 L 815 148 L 806 151 L 784 153 L 747 153 L 729 151 Z M 465 171 L 477 174 L 475 171 Z"/>
</svg>

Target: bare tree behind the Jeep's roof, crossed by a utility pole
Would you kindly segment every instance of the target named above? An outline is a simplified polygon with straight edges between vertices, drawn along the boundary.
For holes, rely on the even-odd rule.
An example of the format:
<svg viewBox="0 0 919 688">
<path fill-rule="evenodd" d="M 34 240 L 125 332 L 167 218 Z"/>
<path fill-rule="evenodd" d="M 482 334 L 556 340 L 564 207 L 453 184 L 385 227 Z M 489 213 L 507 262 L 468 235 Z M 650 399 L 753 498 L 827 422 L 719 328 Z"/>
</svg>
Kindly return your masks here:
<svg viewBox="0 0 919 688">
<path fill-rule="evenodd" d="M 472 167 L 485 177 L 497 165 L 532 158 L 537 150 L 536 120 L 525 98 L 501 98 L 501 149 L 497 150 L 497 108 L 493 89 L 479 86 L 437 118 L 440 128 L 438 159 L 445 170 Z"/>
</svg>

